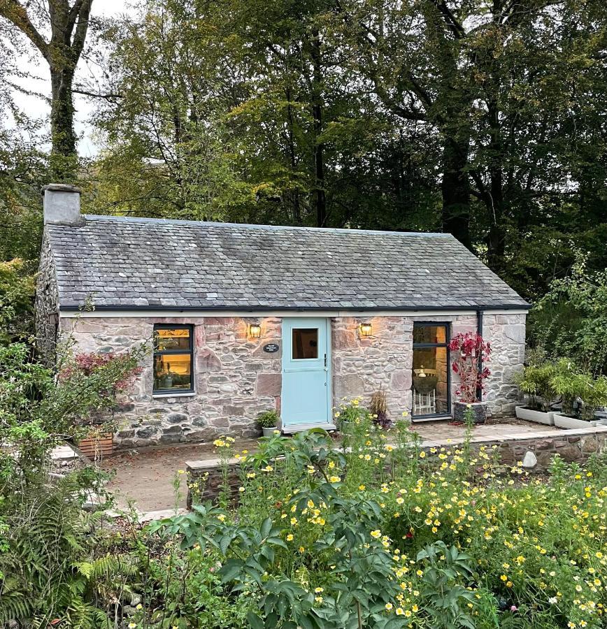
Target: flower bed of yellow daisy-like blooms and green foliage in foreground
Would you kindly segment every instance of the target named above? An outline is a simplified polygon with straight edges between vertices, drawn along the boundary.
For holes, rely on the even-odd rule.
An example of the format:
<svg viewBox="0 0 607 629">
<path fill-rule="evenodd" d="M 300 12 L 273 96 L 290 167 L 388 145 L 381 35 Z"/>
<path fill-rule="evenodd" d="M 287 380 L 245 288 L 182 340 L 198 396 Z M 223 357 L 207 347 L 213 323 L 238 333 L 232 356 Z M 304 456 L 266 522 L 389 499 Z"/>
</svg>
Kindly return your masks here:
<svg viewBox="0 0 607 629">
<path fill-rule="evenodd" d="M 392 446 L 367 417 L 341 451 L 320 431 L 262 440 L 253 455 L 218 440 L 217 503 L 145 532 L 165 550 L 134 626 L 167 607 L 179 627 L 203 626 L 211 608 L 227 627 L 604 626 L 599 456 L 585 470 L 556 458 L 534 479 L 504 470 L 497 447 L 422 450 L 411 434 L 399 422 Z M 187 605 L 165 588 L 167 570 Z"/>
</svg>

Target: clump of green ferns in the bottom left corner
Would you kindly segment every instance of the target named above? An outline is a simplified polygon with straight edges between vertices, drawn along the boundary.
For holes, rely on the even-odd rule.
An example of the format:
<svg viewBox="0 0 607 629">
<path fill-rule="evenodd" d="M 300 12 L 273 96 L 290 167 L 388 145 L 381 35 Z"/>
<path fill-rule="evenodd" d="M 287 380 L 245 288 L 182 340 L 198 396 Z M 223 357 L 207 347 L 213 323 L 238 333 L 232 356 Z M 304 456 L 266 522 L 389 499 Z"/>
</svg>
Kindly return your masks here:
<svg viewBox="0 0 607 629">
<path fill-rule="evenodd" d="M 46 628 L 56 618 L 71 628 L 110 626 L 107 614 L 94 602 L 99 593 L 124 591 L 124 581 L 137 568 L 129 558 L 93 558 L 92 525 L 99 516 L 83 513 L 80 489 L 77 475 L 53 486 L 24 484 L 15 512 L 6 514 L 0 626 L 16 620 Z"/>
</svg>

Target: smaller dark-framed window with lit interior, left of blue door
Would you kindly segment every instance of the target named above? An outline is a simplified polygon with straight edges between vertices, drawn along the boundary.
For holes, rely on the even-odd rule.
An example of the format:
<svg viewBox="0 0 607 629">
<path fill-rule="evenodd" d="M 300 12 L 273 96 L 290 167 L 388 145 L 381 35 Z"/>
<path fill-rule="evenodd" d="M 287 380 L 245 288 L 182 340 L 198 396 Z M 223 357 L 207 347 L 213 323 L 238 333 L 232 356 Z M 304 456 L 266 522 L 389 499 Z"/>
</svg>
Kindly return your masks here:
<svg viewBox="0 0 607 629">
<path fill-rule="evenodd" d="M 153 393 L 194 391 L 194 326 L 154 326 Z"/>
</svg>

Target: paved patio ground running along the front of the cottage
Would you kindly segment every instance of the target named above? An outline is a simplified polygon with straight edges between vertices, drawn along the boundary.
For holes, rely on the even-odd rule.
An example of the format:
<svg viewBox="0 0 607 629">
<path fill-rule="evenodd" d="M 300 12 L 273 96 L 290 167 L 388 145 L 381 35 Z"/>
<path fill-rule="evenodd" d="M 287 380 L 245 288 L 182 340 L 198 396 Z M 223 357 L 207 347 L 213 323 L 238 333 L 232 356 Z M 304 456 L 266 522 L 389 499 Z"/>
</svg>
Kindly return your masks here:
<svg viewBox="0 0 607 629">
<path fill-rule="evenodd" d="M 457 443 L 464 440 L 465 428 L 453 426 L 448 421 L 427 421 L 413 425 L 413 430 L 420 434 L 424 445 L 443 445 L 445 442 Z M 512 419 L 506 423 L 475 426 L 473 438 L 476 440 L 496 440 L 524 438 L 531 433 L 554 433 L 555 426 L 543 426 L 527 421 Z M 336 440 L 338 442 L 338 440 Z M 238 439 L 237 451 L 257 449 L 256 439 Z M 104 459 L 101 468 L 115 472 L 108 488 L 115 492 L 117 506 L 127 507 L 134 503 L 141 512 L 185 507 L 185 475 L 180 475 L 180 498 L 176 500 L 173 479 L 178 470 L 185 470 L 186 461 L 208 461 L 215 459 L 215 447 L 212 443 L 184 444 L 176 447 L 155 449 L 133 449 Z"/>
</svg>

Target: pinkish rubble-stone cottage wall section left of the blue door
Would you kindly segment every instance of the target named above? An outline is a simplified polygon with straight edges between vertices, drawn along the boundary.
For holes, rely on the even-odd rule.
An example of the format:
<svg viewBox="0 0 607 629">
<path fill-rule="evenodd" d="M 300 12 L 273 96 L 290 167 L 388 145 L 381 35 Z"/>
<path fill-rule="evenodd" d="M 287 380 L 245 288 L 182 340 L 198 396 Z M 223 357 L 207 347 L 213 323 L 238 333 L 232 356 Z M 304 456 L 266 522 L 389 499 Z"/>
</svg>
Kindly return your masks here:
<svg viewBox="0 0 607 629">
<path fill-rule="evenodd" d="M 281 342 L 280 319 L 240 317 L 62 319 L 76 352 L 120 352 L 142 342 L 151 347 L 154 324 L 194 325 L 194 393 L 152 396 L 152 354 L 115 414 L 117 447 L 209 441 L 218 435 L 259 434 L 259 412 L 280 409 L 281 352 L 262 346 Z M 262 325 L 249 339 L 248 326 Z"/>
</svg>

